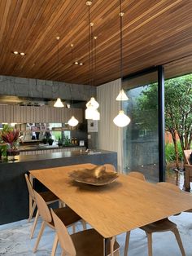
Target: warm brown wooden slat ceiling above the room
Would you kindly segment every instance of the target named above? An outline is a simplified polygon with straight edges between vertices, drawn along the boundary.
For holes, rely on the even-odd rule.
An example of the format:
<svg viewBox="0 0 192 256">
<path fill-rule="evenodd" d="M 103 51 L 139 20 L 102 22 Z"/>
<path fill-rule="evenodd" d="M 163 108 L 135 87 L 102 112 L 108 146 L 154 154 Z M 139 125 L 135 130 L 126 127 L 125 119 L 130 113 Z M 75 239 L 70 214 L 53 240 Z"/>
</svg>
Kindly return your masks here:
<svg viewBox="0 0 192 256">
<path fill-rule="evenodd" d="M 94 77 L 100 85 L 120 77 L 119 0 L 92 2 L 98 36 Z M 165 64 L 167 77 L 192 73 L 191 0 L 124 0 L 122 7 L 124 75 L 159 64 Z M 74 60 L 85 63 L 74 65 L 73 73 L 71 43 Z M 0 0 L 1 75 L 89 84 L 88 49 L 84 0 Z"/>
</svg>

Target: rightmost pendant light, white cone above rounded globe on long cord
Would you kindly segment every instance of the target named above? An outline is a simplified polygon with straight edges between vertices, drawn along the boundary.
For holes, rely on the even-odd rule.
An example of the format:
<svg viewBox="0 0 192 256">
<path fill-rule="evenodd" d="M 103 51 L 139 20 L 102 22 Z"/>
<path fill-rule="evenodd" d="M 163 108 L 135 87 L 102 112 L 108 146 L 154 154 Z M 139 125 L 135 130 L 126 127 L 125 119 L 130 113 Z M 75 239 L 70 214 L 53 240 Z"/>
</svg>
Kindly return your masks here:
<svg viewBox="0 0 192 256">
<path fill-rule="evenodd" d="M 122 101 L 127 100 L 128 97 L 124 93 L 122 88 L 122 77 L 123 77 L 123 16 L 124 12 L 122 11 L 122 4 L 120 0 L 120 82 L 121 82 L 121 90 L 119 95 L 116 97 L 116 100 L 120 100 L 120 107 L 122 108 Z M 120 110 L 119 114 L 113 119 L 113 122 L 116 126 L 124 127 L 128 126 L 131 119 L 124 114 L 123 110 Z"/>
</svg>

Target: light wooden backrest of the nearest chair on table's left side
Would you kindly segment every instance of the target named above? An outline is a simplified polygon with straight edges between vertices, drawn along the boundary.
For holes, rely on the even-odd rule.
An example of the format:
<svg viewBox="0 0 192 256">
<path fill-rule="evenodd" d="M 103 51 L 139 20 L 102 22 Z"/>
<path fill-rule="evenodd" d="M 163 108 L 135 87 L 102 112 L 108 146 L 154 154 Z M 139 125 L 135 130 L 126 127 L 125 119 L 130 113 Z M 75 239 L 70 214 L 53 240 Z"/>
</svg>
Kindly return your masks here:
<svg viewBox="0 0 192 256">
<path fill-rule="evenodd" d="M 62 255 L 76 256 L 76 249 L 73 245 L 71 236 L 68 234 L 67 227 L 65 227 L 63 222 L 52 209 L 50 211 L 54 220 L 55 231 L 57 232 L 60 246 L 63 249 Z"/>
</svg>

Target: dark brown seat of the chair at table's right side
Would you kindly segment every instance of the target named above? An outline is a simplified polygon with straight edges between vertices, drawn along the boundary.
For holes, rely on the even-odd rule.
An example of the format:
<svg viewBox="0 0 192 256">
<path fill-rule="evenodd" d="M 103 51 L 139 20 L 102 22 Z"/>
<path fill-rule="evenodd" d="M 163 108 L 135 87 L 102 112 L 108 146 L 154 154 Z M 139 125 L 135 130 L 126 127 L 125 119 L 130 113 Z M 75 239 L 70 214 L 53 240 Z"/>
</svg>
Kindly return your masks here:
<svg viewBox="0 0 192 256">
<path fill-rule="evenodd" d="M 156 221 L 155 223 L 150 223 L 140 228 L 148 233 L 166 232 L 177 228 L 177 225 L 175 223 L 172 223 L 168 218 L 164 218 Z"/>
</svg>

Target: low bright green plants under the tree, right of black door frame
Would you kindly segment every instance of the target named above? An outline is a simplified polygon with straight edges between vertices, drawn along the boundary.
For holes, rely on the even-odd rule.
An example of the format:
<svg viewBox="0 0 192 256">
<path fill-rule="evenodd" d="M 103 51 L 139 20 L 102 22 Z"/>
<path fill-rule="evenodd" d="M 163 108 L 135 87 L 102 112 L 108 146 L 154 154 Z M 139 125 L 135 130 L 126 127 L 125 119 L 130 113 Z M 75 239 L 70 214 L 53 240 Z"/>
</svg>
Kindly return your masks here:
<svg viewBox="0 0 192 256">
<path fill-rule="evenodd" d="M 177 142 L 177 148 L 179 153 L 179 160 L 183 159 L 183 152 L 181 148 L 181 143 Z M 165 145 L 165 159 L 167 162 L 176 161 L 176 153 L 173 143 L 166 143 Z"/>
</svg>

